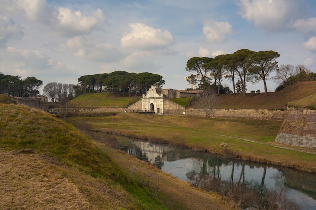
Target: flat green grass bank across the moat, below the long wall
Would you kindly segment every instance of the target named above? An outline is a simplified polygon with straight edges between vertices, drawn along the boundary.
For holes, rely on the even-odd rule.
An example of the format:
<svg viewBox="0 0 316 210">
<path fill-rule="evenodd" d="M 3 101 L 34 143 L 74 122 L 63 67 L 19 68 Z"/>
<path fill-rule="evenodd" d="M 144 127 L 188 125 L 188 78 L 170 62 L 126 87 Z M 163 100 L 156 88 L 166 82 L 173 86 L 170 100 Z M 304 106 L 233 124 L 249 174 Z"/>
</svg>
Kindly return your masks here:
<svg viewBox="0 0 316 210">
<path fill-rule="evenodd" d="M 274 141 L 281 121 L 137 113 L 118 113 L 116 116 L 97 118 L 74 117 L 67 121 L 84 121 L 92 129 L 102 132 L 168 142 L 232 158 L 316 172 L 314 150 L 285 146 Z M 221 142 L 226 142 L 227 147 L 221 147 Z"/>
</svg>

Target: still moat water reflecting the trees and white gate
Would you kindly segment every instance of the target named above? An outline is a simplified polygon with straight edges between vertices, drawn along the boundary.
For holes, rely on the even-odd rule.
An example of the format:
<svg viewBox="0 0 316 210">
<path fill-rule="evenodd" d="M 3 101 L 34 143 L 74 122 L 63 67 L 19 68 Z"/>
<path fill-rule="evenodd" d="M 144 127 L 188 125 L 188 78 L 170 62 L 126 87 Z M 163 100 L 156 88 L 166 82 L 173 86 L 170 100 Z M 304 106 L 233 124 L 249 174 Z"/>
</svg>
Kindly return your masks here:
<svg viewBox="0 0 316 210">
<path fill-rule="evenodd" d="M 90 136 L 96 140 L 110 136 L 115 138 L 113 135 L 102 133 L 90 133 Z M 316 210 L 316 174 L 222 158 L 172 145 L 116 137 L 120 139 L 120 150 L 150 162 L 183 181 L 190 181 L 189 174 L 202 173 L 227 182 L 241 182 L 252 189 L 284 190 L 288 199 L 295 201 L 303 210 Z"/>
</svg>

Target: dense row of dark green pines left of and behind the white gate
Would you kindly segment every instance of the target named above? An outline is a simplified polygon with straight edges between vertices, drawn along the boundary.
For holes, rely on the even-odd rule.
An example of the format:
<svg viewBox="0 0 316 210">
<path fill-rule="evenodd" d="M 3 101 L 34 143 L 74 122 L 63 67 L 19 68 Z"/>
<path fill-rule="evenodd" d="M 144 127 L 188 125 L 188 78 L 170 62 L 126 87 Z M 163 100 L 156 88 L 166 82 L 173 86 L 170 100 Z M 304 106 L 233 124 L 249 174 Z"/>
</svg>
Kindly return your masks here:
<svg viewBox="0 0 316 210">
<path fill-rule="evenodd" d="M 78 78 L 78 84 L 74 86 L 76 95 L 82 93 L 112 92 L 118 96 L 120 93 L 144 94 L 151 85 L 157 84 L 162 87 L 165 84 L 163 77 L 149 72 L 133 73 L 115 71 L 95 75 L 84 75 Z"/>
</svg>

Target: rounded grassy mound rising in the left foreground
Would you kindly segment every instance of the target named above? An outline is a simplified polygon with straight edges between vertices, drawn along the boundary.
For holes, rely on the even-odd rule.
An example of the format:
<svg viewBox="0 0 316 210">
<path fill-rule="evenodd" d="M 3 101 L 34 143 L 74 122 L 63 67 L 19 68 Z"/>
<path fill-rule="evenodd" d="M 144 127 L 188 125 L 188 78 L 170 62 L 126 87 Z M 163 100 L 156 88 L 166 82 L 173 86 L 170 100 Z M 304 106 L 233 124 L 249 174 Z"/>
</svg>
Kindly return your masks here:
<svg viewBox="0 0 316 210">
<path fill-rule="evenodd" d="M 129 176 L 125 170 L 120 168 L 106 153 L 102 152 L 88 137 L 79 132 L 72 125 L 67 124 L 53 115 L 44 113 L 40 110 L 31 109 L 26 106 L 0 104 L 0 152 L 8 158 L 14 152 L 27 162 L 16 163 L 17 168 L 23 165 L 35 167 L 37 170 L 20 171 L 14 174 L 13 169 L 8 168 L 12 163 L 8 159 L 2 159 L 1 166 L 7 166 L 6 170 L 1 170 L 2 176 L 9 176 L 9 186 L 17 184 L 24 190 L 12 206 L 12 200 L 2 202 L 2 209 L 18 209 L 19 206 L 26 209 L 33 209 L 32 206 L 38 203 L 47 204 L 54 202 L 54 196 L 41 197 L 35 199 L 32 190 L 41 192 L 43 188 L 56 189 L 53 186 L 64 186 L 75 188 L 81 197 L 74 194 L 67 194 L 65 200 L 83 200 L 80 209 L 165 209 L 160 201 L 146 188 Z M 7 152 L 5 152 L 7 151 Z M 33 157 L 33 158 L 32 158 Z M 44 158 L 43 158 L 44 157 Z M 49 160 L 48 160 L 49 159 Z M 38 165 L 36 162 L 40 162 Z M 6 164 L 7 163 L 7 164 Z M 25 167 L 26 167 L 25 166 Z M 46 166 L 41 168 L 41 166 Z M 54 170 L 55 169 L 55 170 Z M 35 176 L 43 176 L 41 181 L 36 181 Z M 51 177 L 52 176 L 52 177 Z M 60 181 L 49 183 L 54 178 Z M 21 183 L 21 180 L 24 181 Z M 31 182 L 34 180 L 33 182 Z M 72 182 L 64 185 L 64 182 Z M 3 182 L 2 182 L 3 183 Z M 33 184 L 37 184 L 36 186 Z M 61 185 L 60 185 L 61 184 Z M 74 186 L 75 185 L 75 186 Z M 50 186 L 50 187 L 49 187 Z M 101 187 L 101 188 L 98 188 Z M 16 187 L 18 188 L 18 187 Z M 8 197 L 3 185 L 1 194 Z M 12 188 L 11 188 L 12 189 Z M 10 190 L 10 189 L 6 189 Z M 27 190 L 27 191 L 26 191 Z M 52 192 L 58 195 L 58 192 Z M 69 196 L 75 198 L 70 199 Z M 39 196 L 40 197 L 40 196 Z M 4 197 L 2 197 L 4 198 Z M 44 200 L 43 200 L 44 199 Z M 56 198 L 57 199 L 57 198 Z M 1 199 L 3 200 L 3 199 Z M 31 202 L 18 203 L 19 200 L 32 200 Z M 66 201 L 65 201 L 66 202 Z M 60 206 L 63 209 L 71 209 L 75 204 L 67 203 Z M 76 206 L 76 205 L 75 205 Z M 56 206 L 55 206 L 56 207 Z"/>
</svg>

